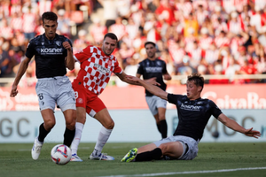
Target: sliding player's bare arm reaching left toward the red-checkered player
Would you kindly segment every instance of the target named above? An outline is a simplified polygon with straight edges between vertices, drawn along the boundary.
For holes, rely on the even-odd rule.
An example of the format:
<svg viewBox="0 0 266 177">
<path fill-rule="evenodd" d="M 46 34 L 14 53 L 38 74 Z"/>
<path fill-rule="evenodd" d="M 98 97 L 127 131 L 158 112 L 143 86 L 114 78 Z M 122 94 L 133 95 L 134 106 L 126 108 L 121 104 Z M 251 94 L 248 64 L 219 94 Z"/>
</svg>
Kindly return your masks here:
<svg viewBox="0 0 266 177">
<path fill-rule="evenodd" d="M 129 81 L 134 81 L 140 85 L 142 85 L 145 89 L 147 89 L 149 92 L 151 92 L 154 96 L 159 96 L 161 99 L 168 100 L 168 92 L 160 89 L 157 86 L 154 86 L 153 84 L 149 83 L 148 81 L 143 81 L 137 77 L 134 76 L 128 76 Z"/>
</svg>

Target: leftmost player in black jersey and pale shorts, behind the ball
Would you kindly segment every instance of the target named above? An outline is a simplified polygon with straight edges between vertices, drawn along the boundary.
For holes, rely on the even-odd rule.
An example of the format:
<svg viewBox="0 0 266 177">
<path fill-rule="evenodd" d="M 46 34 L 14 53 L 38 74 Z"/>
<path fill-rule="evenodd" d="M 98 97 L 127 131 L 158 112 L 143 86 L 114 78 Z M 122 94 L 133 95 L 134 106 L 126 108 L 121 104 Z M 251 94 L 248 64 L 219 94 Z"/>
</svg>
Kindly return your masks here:
<svg viewBox="0 0 266 177">
<path fill-rule="evenodd" d="M 57 104 L 66 119 L 64 144 L 70 146 L 75 132 L 75 97 L 71 81 L 66 76 L 66 67 L 74 69 L 72 43 L 63 35 L 56 34 L 58 16 L 54 12 L 44 12 L 42 15 L 43 35 L 38 35 L 27 45 L 26 58 L 20 63 L 19 71 L 12 84 L 10 96 L 18 94 L 18 85 L 26 72 L 28 63 L 35 56 L 36 77 L 35 89 L 43 116 L 39 127 L 39 135 L 35 138 L 31 155 L 38 159 L 44 138 L 55 126 L 55 105 Z"/>
</svg>

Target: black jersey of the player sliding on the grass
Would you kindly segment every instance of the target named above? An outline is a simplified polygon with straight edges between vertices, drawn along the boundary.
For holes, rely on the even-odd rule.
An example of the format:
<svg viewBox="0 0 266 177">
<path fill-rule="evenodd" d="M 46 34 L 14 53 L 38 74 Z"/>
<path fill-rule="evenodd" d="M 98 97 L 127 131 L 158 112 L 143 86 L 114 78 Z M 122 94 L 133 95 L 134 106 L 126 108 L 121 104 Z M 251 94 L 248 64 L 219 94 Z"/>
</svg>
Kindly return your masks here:
<svg viewBox="0 0 266 177">
<path fill-rule="evenodd" d="M 168 102 L 176 104 L 178 126 L 174 135 L 185 135 L 196 141 L 202 138 L 208 119 L 216 119 L 222 111 L 209 99 L 190 100 L 187 96 L 168 94 Z"/>
</svg>

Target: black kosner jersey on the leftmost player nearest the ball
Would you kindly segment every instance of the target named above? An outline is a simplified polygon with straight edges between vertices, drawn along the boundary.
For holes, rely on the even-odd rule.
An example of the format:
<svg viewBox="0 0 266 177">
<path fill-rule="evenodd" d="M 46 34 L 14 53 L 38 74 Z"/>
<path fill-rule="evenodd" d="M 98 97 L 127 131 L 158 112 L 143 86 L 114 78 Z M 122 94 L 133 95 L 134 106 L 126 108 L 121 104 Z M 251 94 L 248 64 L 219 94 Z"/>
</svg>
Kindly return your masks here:
<svg viewBox="0 0 266 177">
<path fill-rule="evenodd" d="M 37 78 L 66 75 L 67 50 L 63 47 L 63 42 L 69 42 L 72 46 L 69 39 L 57 34 L 53 40 L 48 40 L 45 34 L 38 35 L 28 43 L 26 57 L 35 56 Z"/>
</svg>

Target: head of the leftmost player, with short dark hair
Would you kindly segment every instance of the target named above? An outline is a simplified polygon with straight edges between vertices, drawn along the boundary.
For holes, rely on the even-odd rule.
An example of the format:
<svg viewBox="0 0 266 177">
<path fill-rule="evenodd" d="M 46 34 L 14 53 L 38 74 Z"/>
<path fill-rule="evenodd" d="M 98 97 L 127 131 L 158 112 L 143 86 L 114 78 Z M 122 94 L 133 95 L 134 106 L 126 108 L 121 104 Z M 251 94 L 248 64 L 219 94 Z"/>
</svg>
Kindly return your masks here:
<svg viewBox="0 0 266 177">
<path fill-rule="evenodd" d="M 48 39 L 55 37 L 58 27 L 58 16 L 54 12 L 44 12 L 42 15 L 43 28 Z"/>
</svg>

